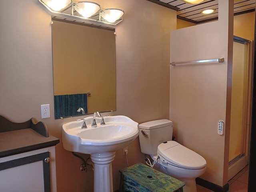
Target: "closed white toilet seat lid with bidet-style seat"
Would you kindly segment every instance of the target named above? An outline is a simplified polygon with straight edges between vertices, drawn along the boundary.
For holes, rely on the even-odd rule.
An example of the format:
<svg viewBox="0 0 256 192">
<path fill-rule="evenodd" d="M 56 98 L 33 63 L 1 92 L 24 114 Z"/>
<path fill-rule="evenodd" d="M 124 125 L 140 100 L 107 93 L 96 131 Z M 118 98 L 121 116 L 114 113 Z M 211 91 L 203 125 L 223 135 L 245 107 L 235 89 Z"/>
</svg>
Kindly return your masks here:
<svg viewBox="0 0 256 192">
<path fill-rule="evenodd" d="M 184 147 L 176 141 L 168 141 L 158 145 L 157 153 L 169 164 L 188 169 L 201 169 L 206 160 L 196 152 Z"/>
</svg>

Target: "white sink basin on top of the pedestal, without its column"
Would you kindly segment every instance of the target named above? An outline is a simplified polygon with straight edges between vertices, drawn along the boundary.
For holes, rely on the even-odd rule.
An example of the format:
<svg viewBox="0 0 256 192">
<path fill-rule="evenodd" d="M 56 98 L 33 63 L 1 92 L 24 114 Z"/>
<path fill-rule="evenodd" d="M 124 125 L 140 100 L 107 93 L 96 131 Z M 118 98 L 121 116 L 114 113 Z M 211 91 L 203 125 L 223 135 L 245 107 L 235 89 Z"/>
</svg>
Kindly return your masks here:
<svg viewBox="0 0 256 192">
<path fill-rule="evenodd" d="M 62 126 L 64 149 L 83 154 L 116 152 L 138 136 L 138 123 L 126 116 L 106 116 L 106 125 L 100 125 L 101 117 L 96 117 L 97 127 L 91 127 L 92 116 L 85 120 L 87 129 L 81 128 L 82 120 Z"/>
</svg>

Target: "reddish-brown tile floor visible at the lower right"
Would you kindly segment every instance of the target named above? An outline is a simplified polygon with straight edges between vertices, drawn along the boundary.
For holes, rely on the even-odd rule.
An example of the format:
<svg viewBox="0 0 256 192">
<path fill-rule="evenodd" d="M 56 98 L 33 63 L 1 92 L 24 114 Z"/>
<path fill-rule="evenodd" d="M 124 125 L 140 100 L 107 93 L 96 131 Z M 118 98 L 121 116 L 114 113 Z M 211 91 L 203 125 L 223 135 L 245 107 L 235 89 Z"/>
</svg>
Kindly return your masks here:
<svg viewBox="0 0 256 192">
<path fill-rule="evenodd" d="M 238 174 L 228 181 L 228 192 L 247 192 L 248 188 L 248 166 L 243 168 Z M 212 192 L 212 190 L 206 189 L 200 185 L 196 185 L 197 192 Z"/>
</svg>

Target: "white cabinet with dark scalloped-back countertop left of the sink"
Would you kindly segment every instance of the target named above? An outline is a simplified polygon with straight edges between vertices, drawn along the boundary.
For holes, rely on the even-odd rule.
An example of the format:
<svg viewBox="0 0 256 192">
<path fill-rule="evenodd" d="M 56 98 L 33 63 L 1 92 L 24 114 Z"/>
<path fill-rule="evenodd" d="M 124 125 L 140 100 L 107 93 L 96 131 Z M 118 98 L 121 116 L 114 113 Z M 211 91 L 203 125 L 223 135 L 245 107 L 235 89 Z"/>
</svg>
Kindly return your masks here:
<svg viewBox="0 0 256 192">
<path fill-rule="evenodd" d="M 0 192 L 56 192 L 55 146 L 43 122 L 0 116 Z"/>
</svg>

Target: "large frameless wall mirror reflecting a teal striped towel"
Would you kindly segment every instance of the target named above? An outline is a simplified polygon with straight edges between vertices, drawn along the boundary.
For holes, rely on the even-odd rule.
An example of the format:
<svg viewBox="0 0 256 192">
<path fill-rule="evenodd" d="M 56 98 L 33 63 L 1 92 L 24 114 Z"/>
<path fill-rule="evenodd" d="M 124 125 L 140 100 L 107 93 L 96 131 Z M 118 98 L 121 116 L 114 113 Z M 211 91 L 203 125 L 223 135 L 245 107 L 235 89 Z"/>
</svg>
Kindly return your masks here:
<svg viewBox="0 0 256 192">
<path fill-rule="evenodd" d="M 52 18 L 52 54 L 56 119 L 116 110 L 114 29 Z"/>
</svg>

